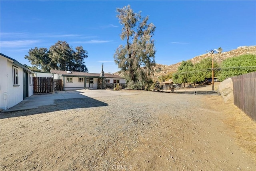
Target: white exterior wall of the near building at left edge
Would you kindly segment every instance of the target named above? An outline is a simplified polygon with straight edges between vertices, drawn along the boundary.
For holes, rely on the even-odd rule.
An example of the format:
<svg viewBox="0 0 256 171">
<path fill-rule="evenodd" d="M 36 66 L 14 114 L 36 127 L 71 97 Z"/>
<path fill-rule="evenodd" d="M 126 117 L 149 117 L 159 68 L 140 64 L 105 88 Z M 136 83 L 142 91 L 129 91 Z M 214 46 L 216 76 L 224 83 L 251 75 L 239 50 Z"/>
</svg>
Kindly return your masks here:
<svg viewBox="0 0 256 171">
<path fill-rule="evenodd" d="M 8 109 L 23 100 L 23 68 L 16 66 L 18 68 L 18 85 L 13 86 L 13 68 L 16 66 L 5 58 L 1 56 L 0 58 L 0 108 Z M 29 73 L 30 74 L 30 73 Z M 33 86 L 29 84 L 28 75 L 28 96 L 33 95 Z M 32 80 L 31 80 L 32 81 Z M 32 84 L 32 83 L 31 83 Z M 4 99 L 4 93 L 7 93 L 6 99 Z"/>
</svg>

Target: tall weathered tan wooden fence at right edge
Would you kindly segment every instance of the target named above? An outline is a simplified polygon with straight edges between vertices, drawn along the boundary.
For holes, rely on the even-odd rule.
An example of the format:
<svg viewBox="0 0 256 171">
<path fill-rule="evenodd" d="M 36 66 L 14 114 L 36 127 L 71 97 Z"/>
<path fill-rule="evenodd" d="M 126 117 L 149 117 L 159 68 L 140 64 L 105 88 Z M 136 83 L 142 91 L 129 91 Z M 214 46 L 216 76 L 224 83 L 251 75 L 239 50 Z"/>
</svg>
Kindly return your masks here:
<svg viewBox="0 0 256 171">
<path fill-rule="evenodd" d="M 232 77 L 234 104 L 256 121 L 256 72 Z"/>
</svg>

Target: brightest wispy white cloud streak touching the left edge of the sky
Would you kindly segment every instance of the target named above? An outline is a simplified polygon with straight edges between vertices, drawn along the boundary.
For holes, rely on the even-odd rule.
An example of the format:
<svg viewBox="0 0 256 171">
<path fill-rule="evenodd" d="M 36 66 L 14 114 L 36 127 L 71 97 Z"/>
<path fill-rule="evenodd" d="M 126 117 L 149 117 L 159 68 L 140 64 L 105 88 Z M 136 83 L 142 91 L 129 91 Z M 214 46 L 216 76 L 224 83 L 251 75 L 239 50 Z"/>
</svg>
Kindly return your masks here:
<svg viewBox="0 0 256 171">
<path fill-rule="evenodd" d="M 7 48 L 17 48 L 17 47 L 26 47 L 32 44 L 41 42 L 40 40 L 11 40 L 11 41 L 1 41 L 0 46 Z"/>
</svg>

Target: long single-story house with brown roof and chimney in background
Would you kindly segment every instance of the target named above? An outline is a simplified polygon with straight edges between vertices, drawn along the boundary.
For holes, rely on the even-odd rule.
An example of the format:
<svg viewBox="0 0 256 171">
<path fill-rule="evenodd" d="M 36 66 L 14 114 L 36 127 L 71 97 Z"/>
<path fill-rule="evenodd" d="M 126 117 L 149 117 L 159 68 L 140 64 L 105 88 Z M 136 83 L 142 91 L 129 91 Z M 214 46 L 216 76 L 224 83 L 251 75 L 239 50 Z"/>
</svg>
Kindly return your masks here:
<svg viewBox="0 0 256 171">
<path fill-rule="evenodd" d="M 70 89 L 105 89 L 114 88 L 119 83 L 123 87 L 126 80 L 116 74 L 107 74 L 103 71 L 100 74 L 89 72 L 74 72 L 62 70 L 50 70 L 52 78 L 64 80 L 64 90 Z M 39 74 L 40 75 L 40 74 Z M 37 73 L 38 76 L 38 73 Z M 103 86 L 102 86 L 103 82 Z"/>
</svg>

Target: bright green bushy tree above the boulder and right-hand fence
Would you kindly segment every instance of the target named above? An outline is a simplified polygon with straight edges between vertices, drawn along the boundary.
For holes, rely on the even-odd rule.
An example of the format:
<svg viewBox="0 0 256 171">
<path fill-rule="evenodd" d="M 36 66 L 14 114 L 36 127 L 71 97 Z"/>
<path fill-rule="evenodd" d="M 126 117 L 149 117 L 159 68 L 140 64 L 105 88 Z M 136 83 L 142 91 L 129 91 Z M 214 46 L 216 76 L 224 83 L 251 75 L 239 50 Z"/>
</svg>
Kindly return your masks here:
<svg viewBox="0 0 256 171">
<path fill-rule="evenodd" d="M 239 76 L 256 71 L 256 55 L 245 54 L 227 58 L 221 64 L 218 80 L 222 82 L 228 77 Z"/>
</svg>

